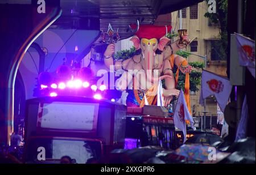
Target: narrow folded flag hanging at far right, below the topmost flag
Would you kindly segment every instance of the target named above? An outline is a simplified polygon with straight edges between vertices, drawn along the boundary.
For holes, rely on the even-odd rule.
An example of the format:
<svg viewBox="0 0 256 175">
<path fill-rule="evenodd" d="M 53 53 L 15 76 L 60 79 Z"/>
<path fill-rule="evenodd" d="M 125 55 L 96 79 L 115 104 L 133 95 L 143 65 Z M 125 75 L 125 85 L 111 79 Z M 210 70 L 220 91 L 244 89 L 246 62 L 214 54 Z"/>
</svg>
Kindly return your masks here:
<svg viewBox="0 0 256 175">
<path fill-rule="evenodd" d="M 237 128 L 236 141 L 239 139 L 246 138 L 247 121 L 248 121 L 248 106 L 247 106 L 247 101 L 245 96 L 245 99 L 243 99 L 241 118 Z"/>
</svg>

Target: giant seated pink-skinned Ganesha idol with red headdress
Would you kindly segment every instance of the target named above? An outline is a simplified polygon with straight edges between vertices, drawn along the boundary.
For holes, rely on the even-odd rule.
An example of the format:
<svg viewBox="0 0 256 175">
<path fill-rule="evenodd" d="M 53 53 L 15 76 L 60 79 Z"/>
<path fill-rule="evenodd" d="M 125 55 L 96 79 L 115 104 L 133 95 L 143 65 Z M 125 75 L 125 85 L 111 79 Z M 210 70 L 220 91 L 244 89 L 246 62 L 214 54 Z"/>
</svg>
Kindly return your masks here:
<svg viewBox="0 0 256 175">
<path fill-rule="evenodd" d="M 131 41 L 136 52 L 133 57 L 115 60 L 114 44 L 109 44 L 104 53 L 104 63 L 107 67 L 114 66 L 114 70 L 123 70 L 121 77 L 115 82 L 115 88 L 128 93 L 126 105 L 129 107 L 143 107 L 156 105 L 159 80 L 165 80 L 163 88 L 164 105 L 170 104 L 173 96 L 179 95 L 175 88 L 175 78 L 172 72 L 174 64 L 183 73 L 191 72 L 185 58 L 174 54 L 186 45 L 179 44 L 179 40 L 167 45 L 170 41 L 166 37 L 171 26 L 139 25 L 129 26 L 135 35 Z M 182 40 L 189 43 L 188 35 Z"/>
</svg>

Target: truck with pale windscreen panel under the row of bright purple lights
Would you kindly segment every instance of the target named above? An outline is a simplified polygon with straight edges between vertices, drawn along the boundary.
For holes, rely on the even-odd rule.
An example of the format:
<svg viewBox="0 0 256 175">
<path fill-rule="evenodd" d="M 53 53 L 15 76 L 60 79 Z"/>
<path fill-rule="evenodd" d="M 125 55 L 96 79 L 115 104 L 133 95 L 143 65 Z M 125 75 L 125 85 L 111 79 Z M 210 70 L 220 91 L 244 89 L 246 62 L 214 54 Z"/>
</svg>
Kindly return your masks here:
<svg viewBox="0 0 256 175">
<path fill-rule="evenodd" d="M 25 163 L 98 162 L 125 143 L 126 106 L 87 97 L 27 100 Z"/>
</svg>

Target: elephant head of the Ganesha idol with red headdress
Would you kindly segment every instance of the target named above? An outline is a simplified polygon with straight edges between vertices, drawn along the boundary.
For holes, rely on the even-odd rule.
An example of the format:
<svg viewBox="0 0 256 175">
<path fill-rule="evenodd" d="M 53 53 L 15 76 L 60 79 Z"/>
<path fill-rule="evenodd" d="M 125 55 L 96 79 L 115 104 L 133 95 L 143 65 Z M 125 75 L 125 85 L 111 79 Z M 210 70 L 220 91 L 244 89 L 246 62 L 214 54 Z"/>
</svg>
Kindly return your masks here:
<svg viewBox="0 0 256 175">
<path fill-rule="evenodd" d="M 129 27 L 135 32 L 130 40 L 133 41 L 137 53 L 141 53 L 142 68 L 146 72 L 153 71 L 157 55 L 163 52 L 164 46 L 170 41 L 166 35 L 171 31 L 171 26 L 139 25 L 137 22 Z"/>
</svg>

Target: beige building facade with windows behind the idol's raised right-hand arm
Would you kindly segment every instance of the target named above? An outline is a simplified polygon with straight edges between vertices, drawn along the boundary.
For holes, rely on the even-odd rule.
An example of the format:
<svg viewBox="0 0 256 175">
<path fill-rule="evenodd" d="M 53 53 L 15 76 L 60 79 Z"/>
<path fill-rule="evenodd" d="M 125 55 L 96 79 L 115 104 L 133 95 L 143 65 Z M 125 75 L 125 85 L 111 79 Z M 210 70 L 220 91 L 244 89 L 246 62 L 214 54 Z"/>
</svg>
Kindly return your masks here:
<svg viewBox="0 0 256 175">
<path fill-rule="evenodd" d="M 226 76 L 226 61 L 221 58 L 219 50 L 216 48 L 218 40 L 220 40 L 220 30 L 218 25 L 213 24 L 209 18 L 205 18 L 204 14 L 208 11 L 207 2 L 201 2 L 191 7 L 181 10 L 181 20 L 179 11 L 171 13 L 172 31 L 177 33 L 181 28 L 187 29 L 190 39 L 189 46 L 184 49 L 192 54 L 199 56 L 207 56 L 207 70 L 219 75 Z M 176 39 L 179 39 L 178 37 Z M 176 40 L 174 39 L 174 40 Z M 188 62 L 204 62 L 204 58 L 191 55 Z M 200 87 L 199 87 L 200 89 Z M 201 115 L 203 106 L 199 105 L 200 91 L 191 93 L 191 109 L 193 116 Z M 217 116 L 217 102 L 214 97 L 207 99 L 207 112 L 213 116 Z"/>
</svg>

